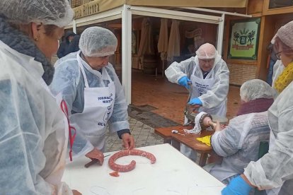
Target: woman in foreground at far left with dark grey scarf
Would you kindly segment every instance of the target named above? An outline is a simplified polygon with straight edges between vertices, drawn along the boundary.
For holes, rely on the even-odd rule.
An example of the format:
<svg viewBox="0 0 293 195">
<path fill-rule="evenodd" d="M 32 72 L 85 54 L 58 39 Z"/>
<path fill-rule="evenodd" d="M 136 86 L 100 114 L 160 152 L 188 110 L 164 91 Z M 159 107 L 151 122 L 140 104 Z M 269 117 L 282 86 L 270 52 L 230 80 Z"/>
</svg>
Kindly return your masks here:
<svg viewBox="0 0 293 195">
<path fill-rule="evenodd" d="M 68 129 L 47 88 L 73 16 L 67 0 L 0 1 L 1 194 L 80 194 L 61 182 Z"/>
</svg>

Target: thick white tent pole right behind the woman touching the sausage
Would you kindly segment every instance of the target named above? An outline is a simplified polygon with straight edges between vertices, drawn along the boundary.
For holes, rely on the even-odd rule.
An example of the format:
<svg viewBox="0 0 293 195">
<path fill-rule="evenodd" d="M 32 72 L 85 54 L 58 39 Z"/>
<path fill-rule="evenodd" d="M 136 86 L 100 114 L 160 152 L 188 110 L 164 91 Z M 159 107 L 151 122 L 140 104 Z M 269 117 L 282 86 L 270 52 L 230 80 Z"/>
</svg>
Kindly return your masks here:
<svg viewBox="0 0 293 195">
<path fill-rule="evenodd" d="M 130 6 L 122 7 L 122 87 L 127 104 L 131 104 L 131 70 L 132 70 L 132 12 Z"/>
</svg>

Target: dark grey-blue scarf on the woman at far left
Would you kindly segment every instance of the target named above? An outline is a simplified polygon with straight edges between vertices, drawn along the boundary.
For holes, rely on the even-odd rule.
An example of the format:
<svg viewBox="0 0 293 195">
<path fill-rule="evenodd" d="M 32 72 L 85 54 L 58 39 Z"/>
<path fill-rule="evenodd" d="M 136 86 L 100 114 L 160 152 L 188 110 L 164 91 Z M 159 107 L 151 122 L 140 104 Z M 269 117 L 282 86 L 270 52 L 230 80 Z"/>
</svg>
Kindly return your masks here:
<svg viewBox="0 0 293 195">
<path fill-rule="evenodd" d="M 5 16 L 0 15 L 0 40 L 12 49 L 26 54 L 30 57 L 34 57 L 35 61 L 39 61 L 44 69 L 42 79 L 44 79 L 47 85 L 50 85 L 54 75 L 54 66 L 47 60 L 44 54 L 38 49 L 33 40 L 25 35 L 20 30 L 17 30 L 6 21 Z M 29 66 L 29 64 L 28 64 Z"/>
</svg>

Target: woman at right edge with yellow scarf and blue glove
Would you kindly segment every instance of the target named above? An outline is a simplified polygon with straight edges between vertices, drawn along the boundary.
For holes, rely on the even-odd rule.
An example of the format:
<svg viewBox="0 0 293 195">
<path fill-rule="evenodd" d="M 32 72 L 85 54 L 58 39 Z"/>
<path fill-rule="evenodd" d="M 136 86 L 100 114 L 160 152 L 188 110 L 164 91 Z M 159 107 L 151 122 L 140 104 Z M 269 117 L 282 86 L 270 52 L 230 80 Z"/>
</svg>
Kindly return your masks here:
<svg viewBox="0 0 293 195">
<path fill-rule="evenodd" d="M 268 110 L 270 149 L 256 162 L 250 162 L 243 175 L 231 180 L 222 194 L 249 194 L 253 187 L 268 194 L 292 194 L 293 187 L 293 21 L 276 34 L 277 58 L 285 66 L 275 81 L 280 93 Z"/>
</svg>

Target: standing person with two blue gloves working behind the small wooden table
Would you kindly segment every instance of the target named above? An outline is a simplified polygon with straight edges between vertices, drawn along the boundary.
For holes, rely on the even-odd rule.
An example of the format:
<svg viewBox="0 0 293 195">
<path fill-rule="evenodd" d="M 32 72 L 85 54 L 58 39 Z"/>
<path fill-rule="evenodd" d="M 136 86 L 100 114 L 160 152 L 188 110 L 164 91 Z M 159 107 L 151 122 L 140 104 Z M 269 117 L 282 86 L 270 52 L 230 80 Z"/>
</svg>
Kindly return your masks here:
<svg viewBox="0 0 293 195">
<path fill-rule="evenodd" d="M 188 89 L 188 83 L 192 82 L 192 88 L 189 89 L 192 94 L 188 105 L 200 107 L 198 112 L 226 117 L 229 69 L 214 45 L 205 43 L 197 49 L 195 57 L 180 63 L 174 61 L 166 69 L 165 74 L 172 83 L 178 83 Z M 188 158 L 197 158 L 195 151 L 185 145 L 180 146 L 180 151 Z"/>
</svg>

